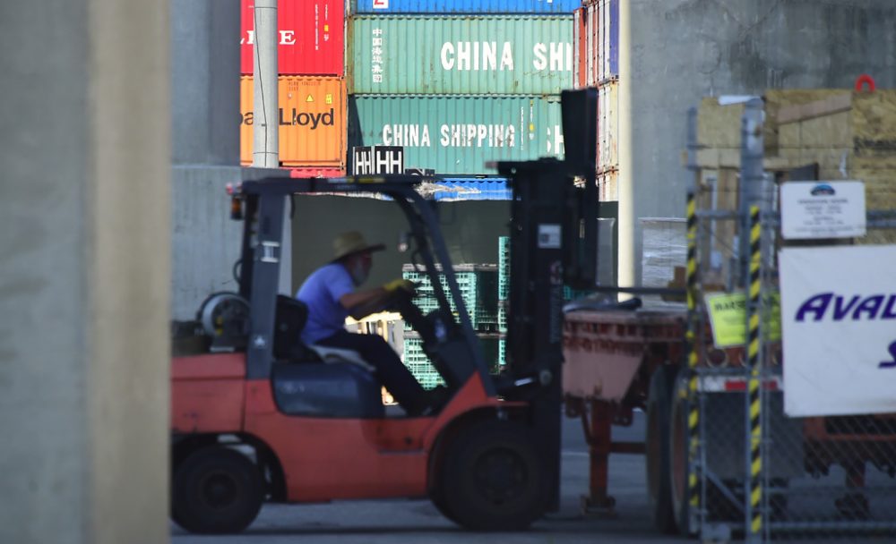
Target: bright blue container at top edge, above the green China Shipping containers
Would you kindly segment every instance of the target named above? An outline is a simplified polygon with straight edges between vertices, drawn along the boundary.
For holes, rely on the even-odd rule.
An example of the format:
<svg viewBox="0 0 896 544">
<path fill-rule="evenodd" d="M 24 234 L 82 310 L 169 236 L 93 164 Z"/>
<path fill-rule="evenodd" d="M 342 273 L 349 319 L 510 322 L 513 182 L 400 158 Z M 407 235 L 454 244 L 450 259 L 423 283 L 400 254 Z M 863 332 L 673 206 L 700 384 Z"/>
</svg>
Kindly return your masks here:
<svg viewBox="0 0 896 544">
<path fill-rule="evenodd" d="M 351 13 L 573 13 L 582 0 L 350 0 Z"/>
</svg>

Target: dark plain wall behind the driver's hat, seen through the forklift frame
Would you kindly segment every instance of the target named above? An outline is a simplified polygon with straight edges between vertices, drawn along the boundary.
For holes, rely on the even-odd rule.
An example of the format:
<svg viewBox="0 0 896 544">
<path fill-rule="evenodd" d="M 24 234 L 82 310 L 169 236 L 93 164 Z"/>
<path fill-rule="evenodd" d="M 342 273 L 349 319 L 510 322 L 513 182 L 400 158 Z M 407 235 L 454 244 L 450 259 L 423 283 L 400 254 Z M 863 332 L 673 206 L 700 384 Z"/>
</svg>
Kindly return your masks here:
<svg viewBox="0 0 896 544">
<path fill-rule="evenodd" d="M 508 234 L 510 203 L 505 201 L 444 202 L 439 204 L 445 244 L 454 264 L 497 264 L 498 236 Z M 345 197 L 296 199 L 292 221 L 293 292 L 323 263 L 332 260 L 332 239 L 342 231 L 359 230 L 367 242 L 382 242 L 368 286 L 401 276 L 410 254 L 397 251 L 408 222 L 394 203 Z"/>
</svg>

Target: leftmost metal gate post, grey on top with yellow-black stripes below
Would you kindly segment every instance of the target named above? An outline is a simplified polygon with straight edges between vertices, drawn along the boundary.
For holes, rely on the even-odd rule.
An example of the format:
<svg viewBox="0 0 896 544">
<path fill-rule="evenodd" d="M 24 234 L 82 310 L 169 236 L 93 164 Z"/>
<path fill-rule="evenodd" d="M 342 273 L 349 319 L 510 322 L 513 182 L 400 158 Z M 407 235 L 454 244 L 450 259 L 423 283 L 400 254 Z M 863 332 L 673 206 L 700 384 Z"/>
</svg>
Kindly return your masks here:
<svg viewBox="0 0 896 544">
<path fill-rule="evenodd" d="M 697 284 L 697 108 L 687 111 L 687 168 L 692 173 L 692 181 L 687 190 L 687 332 L 685 333 L 685 353 L 687 353 L 687 503 L 690 531 L 698 531 L 702 526 L 701 489 L 698 471 L 701 470 L 700 456 L 700 404 L 697 402 L 697 362 L 699 361 L 697 336 L 700 327 L 700 287 Z"/>
</svg>

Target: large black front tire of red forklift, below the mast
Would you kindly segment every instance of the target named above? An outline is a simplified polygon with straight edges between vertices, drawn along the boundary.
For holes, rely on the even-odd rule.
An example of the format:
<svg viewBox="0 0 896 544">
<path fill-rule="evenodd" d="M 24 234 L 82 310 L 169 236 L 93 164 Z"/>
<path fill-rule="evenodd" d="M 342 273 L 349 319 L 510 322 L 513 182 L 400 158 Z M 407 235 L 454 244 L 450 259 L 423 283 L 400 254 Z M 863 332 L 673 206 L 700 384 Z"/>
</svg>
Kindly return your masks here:
<svg viewBox="0 0 896 544">
<path fill-rule="evenodd" d="M 440 473 L 446 517 L 473 531 L 519 531 L 546 508 L 547 480 L 530 430 L 479 423 L 448 446 Z"/>
</svg>

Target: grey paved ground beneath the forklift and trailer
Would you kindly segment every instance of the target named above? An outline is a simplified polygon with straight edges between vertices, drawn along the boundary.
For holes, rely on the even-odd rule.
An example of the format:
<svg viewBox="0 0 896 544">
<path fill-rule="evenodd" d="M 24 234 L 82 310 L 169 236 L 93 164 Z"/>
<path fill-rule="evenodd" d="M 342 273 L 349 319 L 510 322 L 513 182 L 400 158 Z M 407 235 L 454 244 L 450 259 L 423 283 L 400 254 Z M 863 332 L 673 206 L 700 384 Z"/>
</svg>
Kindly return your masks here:
<svg viewBox="0 0 896 544">
<path fill-rule="evenodd" d="M 643 421 L 615 429 L 616 439 L 643 437 Z M 610 492 L 616 497 L 616 516 L 585 516 L 579 497 L 588 489 L 588 454 L 576 420 L 564 420 L 563 482 L 560 512 L 535 523 L 530 531 L 471 533 L 447 521 L 428 501 L 351 501 L 328 505 L 265 506 L 243 534 L 230 537 L 189 535 L 172 524 L 176 544 L 223 542 L 280 544 L 286 542 L 340 544 L 519 543 L 573 544 L 578 542 L 681 542 L 649 527 L 642 455 L 613 455 Z"/>
</svg>

